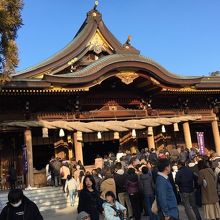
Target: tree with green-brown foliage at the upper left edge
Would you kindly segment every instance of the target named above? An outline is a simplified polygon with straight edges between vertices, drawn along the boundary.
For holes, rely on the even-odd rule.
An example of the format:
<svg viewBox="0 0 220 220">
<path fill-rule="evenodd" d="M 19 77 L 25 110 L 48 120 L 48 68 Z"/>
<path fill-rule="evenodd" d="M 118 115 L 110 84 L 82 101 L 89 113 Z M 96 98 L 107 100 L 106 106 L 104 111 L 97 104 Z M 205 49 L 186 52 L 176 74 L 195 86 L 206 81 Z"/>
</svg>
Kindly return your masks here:
<svg viewBox="0 0 220 220">
<path fill-rule="evenodd" d="M 15 39 L 22 25 L 22 0 L 0 0 L 0 84 L 10 80 L 18 65 Z"/>
</svg>

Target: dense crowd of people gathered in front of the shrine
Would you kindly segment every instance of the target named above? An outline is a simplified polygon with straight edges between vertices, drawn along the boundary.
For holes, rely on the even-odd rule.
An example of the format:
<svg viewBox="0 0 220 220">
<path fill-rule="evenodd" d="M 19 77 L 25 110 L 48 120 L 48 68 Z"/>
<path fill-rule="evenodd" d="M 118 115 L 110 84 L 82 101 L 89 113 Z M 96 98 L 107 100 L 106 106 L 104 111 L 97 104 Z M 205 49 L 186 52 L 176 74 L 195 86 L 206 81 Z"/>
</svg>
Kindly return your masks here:
<svg viewBox="0 0 220 220">
<path fill-rule="evenodd" d="M 143 215 L 150 220 L 177 220 L 179 204 L 189 220 L 220 219 L 220 157 L 216 153 L 200 155 L 196 148 L 119 151 L 97 156 L 95 168 L 87 171 L 74 158 L 62 161 L 53 157 L 47 177 L 48 185 L 62 186 L 71 206 L 79 198 L 79 220 L 99 220 L 101 215 L 105 220 L 140 220 Z M 7 206 L 12 210 L 20 207 L 18 200 L 9 200 Z M 22 201 L 29 203 L 26 198 Z"/>
</svg>

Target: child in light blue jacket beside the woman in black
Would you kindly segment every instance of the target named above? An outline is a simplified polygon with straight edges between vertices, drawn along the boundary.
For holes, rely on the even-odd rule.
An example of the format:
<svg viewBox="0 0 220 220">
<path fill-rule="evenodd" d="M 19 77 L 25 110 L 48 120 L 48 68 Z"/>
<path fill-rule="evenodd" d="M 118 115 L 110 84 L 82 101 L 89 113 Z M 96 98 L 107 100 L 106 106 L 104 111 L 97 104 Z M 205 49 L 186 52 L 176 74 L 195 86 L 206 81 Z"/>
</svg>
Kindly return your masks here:
<svg viewBox="0 0 220 220">
<path fill-rule="evenodd" d="M 106 202 L 103 204 L 105 220 L 123 220 L 127 219 L 126 208 L 116 201 L 115 194 L 108 191 L 105 194 Z"/>
</svg>

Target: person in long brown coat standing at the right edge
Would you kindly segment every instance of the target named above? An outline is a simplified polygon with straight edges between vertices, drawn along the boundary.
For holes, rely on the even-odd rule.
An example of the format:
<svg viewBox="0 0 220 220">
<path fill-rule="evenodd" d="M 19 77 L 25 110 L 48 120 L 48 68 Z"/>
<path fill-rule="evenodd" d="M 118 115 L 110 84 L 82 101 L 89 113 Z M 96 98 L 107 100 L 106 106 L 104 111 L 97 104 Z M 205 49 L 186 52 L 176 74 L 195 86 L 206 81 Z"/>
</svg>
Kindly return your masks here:
<svg viewBox="0 0 220 220">
<path fill-rule="evenodd" d="M 219 199 L 215 180 L 215 174 L 205 160 L 198 162 L 199 177 L 198 183 L 201 185 L 202 207 L 205 219 L 219 219 Z"/>
</svg>

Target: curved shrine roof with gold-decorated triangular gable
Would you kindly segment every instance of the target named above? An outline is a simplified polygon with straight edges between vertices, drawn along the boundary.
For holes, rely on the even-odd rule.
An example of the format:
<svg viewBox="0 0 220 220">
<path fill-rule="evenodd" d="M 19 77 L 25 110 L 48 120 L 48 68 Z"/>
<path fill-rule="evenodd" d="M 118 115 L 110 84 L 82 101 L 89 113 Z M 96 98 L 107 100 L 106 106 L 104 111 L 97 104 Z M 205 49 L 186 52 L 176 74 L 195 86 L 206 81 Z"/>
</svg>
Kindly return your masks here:
<svg viewBox="0 0 220 220">
<path fill-rule="evenodd" d="M 105 56 L 98 57 L 105 50 Z M 72 65 L 81 61 L 89 51 L 97 52 L 96 59 L 80 70 L 68 71 Z M 170 73 L 161 65 L 140 55 L 128 40 L 121 44 L 105 26 L 102 15 L 96 9 L 87 13 L 87 18 L 74 39 L 63 50 L 37 66 L 13 75 L 5 87 L 49 88 L 53 84 L 61 87 L 85 87 L 94 82 L 116 76 L 118 72 L 132 70 L 139 76 L 151 77 L 161 87 L 220 89 L 220 77 L 182 77 Z"/>
</svg>

